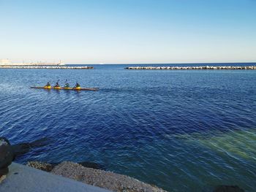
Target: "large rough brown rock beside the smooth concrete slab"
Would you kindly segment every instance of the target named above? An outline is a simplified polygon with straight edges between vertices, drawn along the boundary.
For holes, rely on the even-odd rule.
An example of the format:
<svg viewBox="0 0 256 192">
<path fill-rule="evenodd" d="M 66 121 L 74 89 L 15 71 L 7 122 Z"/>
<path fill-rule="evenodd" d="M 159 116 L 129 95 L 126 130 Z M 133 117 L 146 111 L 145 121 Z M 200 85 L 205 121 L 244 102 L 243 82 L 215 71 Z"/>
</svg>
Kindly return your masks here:
<svg viewBox="0 0 256 192">
<path fill-rule="evenodd" d="M 132 177 L 91 169 L 72 162 L 63 162 L 55 166 L 51 172 L 89 185 L 106 188 L 110 191 L 163 191 Z"/>
</svg>

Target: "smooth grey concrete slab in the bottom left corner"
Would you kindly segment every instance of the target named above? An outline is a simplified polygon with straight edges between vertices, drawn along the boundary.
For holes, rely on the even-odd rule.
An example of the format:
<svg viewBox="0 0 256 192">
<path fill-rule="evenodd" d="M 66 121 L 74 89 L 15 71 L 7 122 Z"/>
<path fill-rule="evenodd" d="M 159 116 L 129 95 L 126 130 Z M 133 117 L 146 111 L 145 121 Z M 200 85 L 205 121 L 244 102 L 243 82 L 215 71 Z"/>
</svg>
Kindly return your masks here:
<svg viewBox="0 0 256 192">
<path fill-rule="evenodd" d="M 10 172 L 7 174 L 7 178 L 0 183 L 1 192 L 110 192 L 103 188 L 86 185 L 29 166 L 12 163 L 9 169 Z"/>
</svg>

